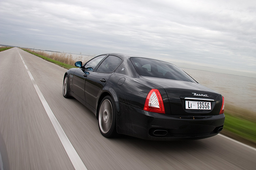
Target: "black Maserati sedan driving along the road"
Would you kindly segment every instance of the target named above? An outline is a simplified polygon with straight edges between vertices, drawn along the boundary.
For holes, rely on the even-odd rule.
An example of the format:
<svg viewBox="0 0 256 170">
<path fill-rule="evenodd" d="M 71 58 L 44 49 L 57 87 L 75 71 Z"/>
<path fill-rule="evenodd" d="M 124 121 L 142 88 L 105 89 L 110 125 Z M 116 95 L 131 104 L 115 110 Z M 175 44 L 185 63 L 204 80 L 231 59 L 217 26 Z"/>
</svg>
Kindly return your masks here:
<svg viewBox="0 0 256 170">
<path fill-rule="evenodd" d="M 112 53 L 75 65 L 64 75 L 63 96 L 88 107 L 104 137 L 202 139 L 223 128 L 224 97 L 171 63 Z"/>
</svg>

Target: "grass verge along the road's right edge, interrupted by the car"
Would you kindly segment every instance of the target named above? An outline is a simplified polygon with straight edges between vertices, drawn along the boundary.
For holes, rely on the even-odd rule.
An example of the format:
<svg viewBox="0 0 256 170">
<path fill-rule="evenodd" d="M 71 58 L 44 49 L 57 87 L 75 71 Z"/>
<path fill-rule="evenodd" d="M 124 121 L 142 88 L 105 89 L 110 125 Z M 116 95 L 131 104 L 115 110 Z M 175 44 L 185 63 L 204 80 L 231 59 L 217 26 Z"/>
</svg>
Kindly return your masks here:
<svg viewBox="0 0 256 170">
<path fill-rule="evenodd" d="M 23 48 L 22 48 L 23 49 Z M 23 49 L 28 53 L 36 55 L 38 57 L 43 58 L 51 63 L 55 63 L 61 67 L 66 69 L 76 68 L 70 64 L 62 63 L 51 58 L 45 57 L 44 55 L 39 55 L 35 52 L 31 52 L 29 50 Z M 58 57 L 57 57 L 58 58 Z M 62 56 L 61 56 L 62 58 Z M 68 61 L 66 59 L 66 61 Z M 241 141 L 245 144 L 249 144 L 253 147 L 256 147 L 256 121 L 253 119 L 254 114 L 248 112 L 243 112 L 238 109 L 232 109 L 233 107 L 230 106 L 225 111 L 225 123 L 221 134 Z M 241 115 L 239 113 L 244 113 Z M 252 116 L 253 115 L 253 116 Z M 249 118 L 251 117 L 251 119 Z"/>
</svg>

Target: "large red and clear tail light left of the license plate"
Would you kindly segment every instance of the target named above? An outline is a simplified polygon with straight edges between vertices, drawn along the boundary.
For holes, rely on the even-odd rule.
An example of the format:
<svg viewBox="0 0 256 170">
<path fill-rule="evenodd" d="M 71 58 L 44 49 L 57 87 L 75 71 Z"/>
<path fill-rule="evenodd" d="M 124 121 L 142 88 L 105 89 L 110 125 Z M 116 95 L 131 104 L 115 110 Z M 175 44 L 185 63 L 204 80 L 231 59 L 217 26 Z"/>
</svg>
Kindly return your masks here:
<svg viewBox="0 0 256 170">
<path fill-rule="evenodd" d="M 165 113 L 164 101 L 157 89 L 151 89 L 146 98 L 144 109 L 148 112 Z"/>
</svg>

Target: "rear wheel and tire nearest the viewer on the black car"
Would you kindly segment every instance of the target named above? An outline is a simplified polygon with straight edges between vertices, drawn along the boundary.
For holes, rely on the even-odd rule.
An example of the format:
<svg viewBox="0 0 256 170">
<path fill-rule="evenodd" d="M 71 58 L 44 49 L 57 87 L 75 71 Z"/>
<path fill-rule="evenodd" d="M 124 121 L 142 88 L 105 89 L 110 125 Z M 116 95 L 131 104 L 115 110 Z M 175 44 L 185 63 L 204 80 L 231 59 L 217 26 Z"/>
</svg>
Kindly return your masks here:
<svg viewBox="0 0 256 170">
<path fill-rule="evenodd" d="M 104 97 L 100 103 L 98 125 L 104 137 L 116 136 L 116 108 L 110 96 Z"/>
</svg>

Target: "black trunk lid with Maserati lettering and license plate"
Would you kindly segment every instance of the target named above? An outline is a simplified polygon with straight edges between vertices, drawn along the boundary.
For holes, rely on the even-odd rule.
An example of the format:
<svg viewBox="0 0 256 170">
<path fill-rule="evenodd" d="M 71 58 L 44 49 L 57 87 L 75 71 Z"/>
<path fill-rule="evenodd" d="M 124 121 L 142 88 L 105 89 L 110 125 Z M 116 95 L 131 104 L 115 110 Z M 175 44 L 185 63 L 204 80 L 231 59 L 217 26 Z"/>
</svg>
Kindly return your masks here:
<svg viewBox="0 0 256 170">
<path fill-rule="evenodd" d="M 164 88 L 171 110 L 171 113 L 166 114 L 203 116 L 220 113 L 221 95 L 199 83 L 166 78 L 143 78 Z"/>
</svg>

